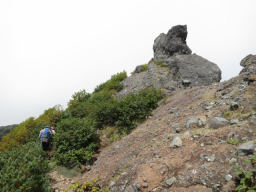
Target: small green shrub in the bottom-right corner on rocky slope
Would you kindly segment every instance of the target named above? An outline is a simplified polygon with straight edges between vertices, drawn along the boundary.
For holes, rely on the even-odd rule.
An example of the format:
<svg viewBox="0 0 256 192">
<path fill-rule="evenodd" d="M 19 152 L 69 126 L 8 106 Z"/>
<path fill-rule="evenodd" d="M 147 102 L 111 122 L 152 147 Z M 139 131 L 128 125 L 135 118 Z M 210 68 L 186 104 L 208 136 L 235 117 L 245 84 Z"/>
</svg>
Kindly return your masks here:
<svg viewBox="0 0 256 192">
<path fill-rule="evenodd" d="M 246 160 L 254 168 L 256 165 L 256 155 L 253 155 L 250 159 Z M 235 165 L 236 169 L 236 189 L 239 192 L 255 192 L 256 191 L 256 170 L 245 170 Z"/>
</svg>

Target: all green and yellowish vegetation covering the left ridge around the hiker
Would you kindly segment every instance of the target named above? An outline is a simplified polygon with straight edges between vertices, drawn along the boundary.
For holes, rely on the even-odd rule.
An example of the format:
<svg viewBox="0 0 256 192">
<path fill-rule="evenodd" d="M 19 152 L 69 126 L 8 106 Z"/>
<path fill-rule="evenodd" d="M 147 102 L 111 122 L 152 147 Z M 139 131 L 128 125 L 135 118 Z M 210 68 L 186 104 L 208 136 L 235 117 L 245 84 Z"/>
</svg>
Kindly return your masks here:
<svg viewBox="0 0 256 192">
<path fill-rule="evenodd" d="M 93 93 L 76 92 L 66 110 L 60 106 L 47 109 L 4 136 L 0 142 L 0 191 L 50 190 L 46 177 L 48 161 L 38 142 L 39 131 L 45 125 L 56 126 L 51 161 L 74 167 L 90 162 L 99 148 L 97 130 L 111 126 L 115 134 L 126 134 L 149 116 L 163 94 L 148 87 L 117 99 L 114 94 L 123 88 L 121 81 L 126 77 L 126 72 L 118 73 Z"/>
</svg>

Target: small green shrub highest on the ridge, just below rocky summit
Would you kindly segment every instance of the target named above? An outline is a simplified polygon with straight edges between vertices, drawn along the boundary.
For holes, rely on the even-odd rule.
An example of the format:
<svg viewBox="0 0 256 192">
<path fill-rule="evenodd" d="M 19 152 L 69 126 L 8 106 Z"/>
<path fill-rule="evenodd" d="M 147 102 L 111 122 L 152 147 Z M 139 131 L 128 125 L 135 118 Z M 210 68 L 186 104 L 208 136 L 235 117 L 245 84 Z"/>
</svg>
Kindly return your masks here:
<svg viewBox="0 0 256 192">
<path fill-rule="evenodd" d="M 94 92 L 96 93 L 102 90 L 105 90 L 105 91 L 114 90 L 116 92 L 121 91 L 123 89 L 123 85 L 121 84 L 121 81 L 123 81 L 126 78 L 127 78 L 127 74 L 125 71 L 121 73 L 117 73 L 116 75 L 113 75 L 110 80 L 97 86 Z"/>
</svg>

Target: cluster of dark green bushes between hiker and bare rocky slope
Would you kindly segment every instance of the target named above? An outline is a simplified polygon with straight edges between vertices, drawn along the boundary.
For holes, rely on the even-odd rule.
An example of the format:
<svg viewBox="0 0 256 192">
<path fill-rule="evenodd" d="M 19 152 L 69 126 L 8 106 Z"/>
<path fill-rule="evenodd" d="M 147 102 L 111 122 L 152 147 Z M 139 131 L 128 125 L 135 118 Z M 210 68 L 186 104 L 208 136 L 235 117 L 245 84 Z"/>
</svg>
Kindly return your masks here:
<svg viewBox="0 0 256 192">
<path fill-rule="evenodd" d="M 82 99 L 76 99 L 80 95 Z M 128 133 L 157 107 L 163 94 L 153 87 L 131 93 L 118 100 L 112 91 L 76 93 L 69 102 L 66 119 L 57 124 L 54 138 L 55 159 L 59 165 L 73 167 L 90 160 L 98 148 L 96 129 L 116 127 L 120 134 Z"/>
</svg>

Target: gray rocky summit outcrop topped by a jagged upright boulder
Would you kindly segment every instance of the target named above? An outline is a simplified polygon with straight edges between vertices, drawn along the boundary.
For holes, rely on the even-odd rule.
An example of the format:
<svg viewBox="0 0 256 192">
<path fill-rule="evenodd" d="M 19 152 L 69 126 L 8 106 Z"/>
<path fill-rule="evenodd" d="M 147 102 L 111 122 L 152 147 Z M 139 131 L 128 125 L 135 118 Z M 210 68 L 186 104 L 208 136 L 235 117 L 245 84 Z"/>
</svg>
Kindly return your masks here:
<svg viewBox="0 0 256 192">
<path fill-rule="evenodd" d="M 133 75 L 123 81 L 124 89 L 118 95 L 136 92 L 147 86 L 172 92 L 181 87 L 210 85 L 221 80 L 219 67 L 191 54 L 186 44 L 187 26 L 172 27 L 154 41 L 154 58 L 148 64 L 137 66 Z"/>
</svg>

